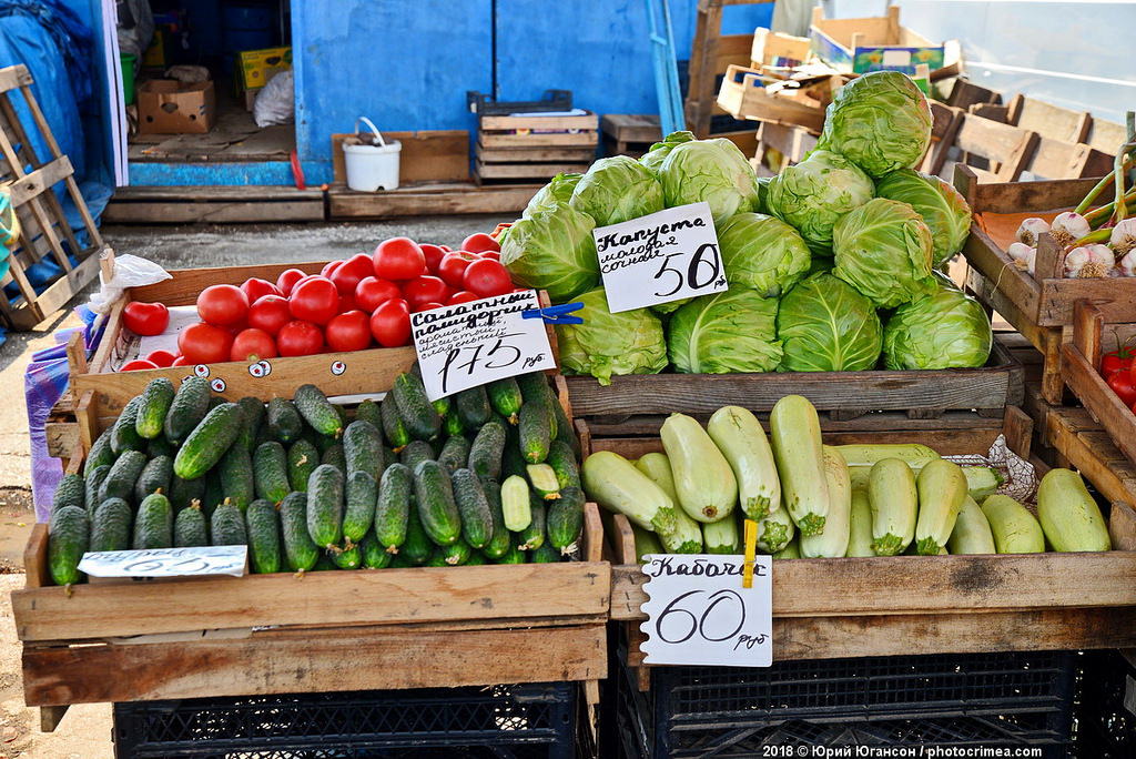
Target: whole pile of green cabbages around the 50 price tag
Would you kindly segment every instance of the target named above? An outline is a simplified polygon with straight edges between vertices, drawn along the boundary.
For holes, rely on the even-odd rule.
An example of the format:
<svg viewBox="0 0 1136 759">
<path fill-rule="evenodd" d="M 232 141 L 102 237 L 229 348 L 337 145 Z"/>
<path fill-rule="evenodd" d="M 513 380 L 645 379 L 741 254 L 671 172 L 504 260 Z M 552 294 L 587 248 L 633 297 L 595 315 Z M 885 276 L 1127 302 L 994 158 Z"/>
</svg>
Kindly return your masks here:
<svg viewBox="0 0 1136 759">
<path fill-rule="evenodd" d="M 970 208 L 913 170 L 932 115 L 916 84 L 875 72 L 828 107 L 817 149 L 759 181 L 733 142 L 676 132 L 637 161 L 603 158 L 542 187 L 502 240 L 517 284 L 554 303 L 566 373 L 842 372 L 983 366 L 989 319 L 939 274 L 962 249 Z M 592 230 L 710 206 L 729 290 L 611 314 Z"/>
</svg>

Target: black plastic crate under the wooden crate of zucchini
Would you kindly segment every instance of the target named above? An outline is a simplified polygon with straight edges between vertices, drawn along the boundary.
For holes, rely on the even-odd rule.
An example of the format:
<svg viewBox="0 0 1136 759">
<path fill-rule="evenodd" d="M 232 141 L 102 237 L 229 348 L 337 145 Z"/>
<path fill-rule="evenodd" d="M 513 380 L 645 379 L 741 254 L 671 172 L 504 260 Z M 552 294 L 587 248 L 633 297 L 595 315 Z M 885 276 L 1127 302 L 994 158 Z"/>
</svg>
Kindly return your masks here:
<svg viewBox="0 0 1136 759">
<path fill-rule="evenodd" d="M 620 657 L 626 661 L 626 656 Z M 640 693 L 620 667 L 624 754 L 753 757 L 762 747 L 1039 747 L 1067 757 L 1074 652 L 1000 652 L 652 667 Z"/>
</svg>

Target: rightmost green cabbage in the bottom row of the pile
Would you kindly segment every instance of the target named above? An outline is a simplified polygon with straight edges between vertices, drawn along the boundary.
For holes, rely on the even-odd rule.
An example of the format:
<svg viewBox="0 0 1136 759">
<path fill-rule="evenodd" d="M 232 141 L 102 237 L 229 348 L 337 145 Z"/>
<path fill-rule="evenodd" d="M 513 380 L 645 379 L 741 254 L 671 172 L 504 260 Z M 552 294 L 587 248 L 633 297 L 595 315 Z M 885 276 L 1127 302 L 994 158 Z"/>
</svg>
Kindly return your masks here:
<svg viewBox="0 0 1136 759">
<path fill-rule="evenodd" d="M 938 291 L 895 309 L 884 325 L 888 369 L 951 369 L 986 365 L 993 333 L 982 305 L 937 277 Z"/>
</svg>

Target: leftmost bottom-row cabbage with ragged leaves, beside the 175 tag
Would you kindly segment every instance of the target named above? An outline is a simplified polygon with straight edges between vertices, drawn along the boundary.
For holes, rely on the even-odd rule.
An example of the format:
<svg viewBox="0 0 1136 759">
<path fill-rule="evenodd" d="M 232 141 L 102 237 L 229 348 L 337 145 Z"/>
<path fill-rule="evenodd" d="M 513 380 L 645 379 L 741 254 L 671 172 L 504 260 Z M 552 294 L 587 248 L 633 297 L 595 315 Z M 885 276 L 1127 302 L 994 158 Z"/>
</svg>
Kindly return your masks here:
<svg viewBox="0 0 1136 759">
<path fill-rule="evenodd" d="M 658 374 L 667 366 L 662 322 L 650 309 L 612 314 L 603 287 L 584 293 L 584 324 L 557 325 L 565 374 L 590 374 L 610 385 L 616 374 Z"/>
</svg>

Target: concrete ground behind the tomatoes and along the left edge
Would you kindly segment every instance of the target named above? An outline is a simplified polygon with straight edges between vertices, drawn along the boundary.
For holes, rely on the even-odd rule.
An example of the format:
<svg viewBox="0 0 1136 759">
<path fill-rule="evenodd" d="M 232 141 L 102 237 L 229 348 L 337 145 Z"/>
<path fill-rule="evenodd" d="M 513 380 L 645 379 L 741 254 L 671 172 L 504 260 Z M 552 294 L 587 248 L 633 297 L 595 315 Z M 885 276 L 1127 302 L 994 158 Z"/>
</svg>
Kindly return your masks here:
<svg viewBox="0 0 1136 759">
<path fill-rule="evenodd" d="M 414 217 L 392 222 L 304 225 L 112 226 L 102 235 L 116 255 L 132 253 L 167 269 L 279 264 L 346 258 L 404 235 L 457 248 L 474 232 L 492 232 L 504 216 Z M 109 759 L 109 704 L 72 708 L 53 733 L 39 729 L 36 709 L 24 706 L 20 643 L 11 620 L 10 592 L 23 587 L 23 550 L 35 522 L 31 495 L 28 422 L 24 373 L 33 352 L 56 343 L 53 332 L 77 326 L 70 309 L 85 302 L 92 284 L 37 332 L 8 333 L 0 345 L 0 759 Z"/>
</svg>

